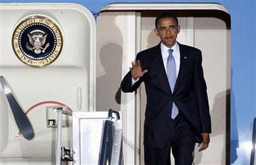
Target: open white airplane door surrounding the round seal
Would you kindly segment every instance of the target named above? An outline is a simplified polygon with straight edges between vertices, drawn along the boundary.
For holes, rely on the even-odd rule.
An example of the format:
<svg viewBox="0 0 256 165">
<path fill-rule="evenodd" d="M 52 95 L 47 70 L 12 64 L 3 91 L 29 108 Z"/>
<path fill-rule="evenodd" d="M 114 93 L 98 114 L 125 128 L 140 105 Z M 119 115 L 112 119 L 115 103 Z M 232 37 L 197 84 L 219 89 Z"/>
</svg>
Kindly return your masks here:
<svg viewBox="0 0 256 165">
<path fill-rule="evenodd" d="M 72 3 L 0 3 L 0 13 L 0 75 L 7 78 L 25 111 L 38 105 L 27 114 L 35 131 L 32 141 L 18 136 L 18 128 L 9 115 L 9 123 L 4 125 L 9 127 L 9 132 L 5 131 L 7 145 L 1 145 L 0 162 L 49 164 L 55 157 L 56 129 L 46 127 L 46 106 L 59 102 L 74 111 L 95 108 L 96 23 L 88 9 Z M 26 16 L 35 14 L 46 15 L 59 23 L 64 38 L 59 58 L 42 68 L 22 63 L 11 46 L 15 26 Z M 6 110 L 4 106 L 0 108 Z M 64 128 L 63 145 L 70 143 L 70 137 L 69 129 Z"/>
</svg>

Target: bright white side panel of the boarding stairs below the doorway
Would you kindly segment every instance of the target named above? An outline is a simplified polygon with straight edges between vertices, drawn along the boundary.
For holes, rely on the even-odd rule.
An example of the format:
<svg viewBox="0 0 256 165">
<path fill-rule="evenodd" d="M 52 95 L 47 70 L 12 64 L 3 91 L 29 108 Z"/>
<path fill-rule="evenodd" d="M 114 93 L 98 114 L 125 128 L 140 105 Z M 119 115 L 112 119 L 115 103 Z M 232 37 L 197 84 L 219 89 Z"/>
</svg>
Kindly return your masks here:
<svg viewBox="0 0 256 165">
<path fill-rule="evenodd" d="M 103 120 L 108 112 L 73 113 L 73 151 L 75 164 L 98 164 Z"/>
</svg>

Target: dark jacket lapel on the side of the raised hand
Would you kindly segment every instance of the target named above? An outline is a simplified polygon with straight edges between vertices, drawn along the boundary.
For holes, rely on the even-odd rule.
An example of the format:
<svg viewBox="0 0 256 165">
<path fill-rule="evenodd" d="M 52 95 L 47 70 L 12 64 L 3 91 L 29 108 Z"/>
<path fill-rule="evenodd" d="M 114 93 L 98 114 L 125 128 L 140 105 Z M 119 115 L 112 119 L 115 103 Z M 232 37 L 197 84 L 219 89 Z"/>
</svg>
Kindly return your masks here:
<svg viewBox="0 0 256 165">
<path fill-rule="evenodd" d="M 155 58 L 153 59 L 153 65 L 156 67 L 157 72 L 158 72 L 158 76 L 159 76 L 159 80 L 160 80 L 160 88 L 162 88 L 162 91 L 166 92 L 166 94 L 171 94 L 170 92 L 170 86 L 169 86 L 169 82 L 168 82 L 168 77 L 166 75 L 166 71 L 164 69 L 164 61 L 162 59 L 162 53 L 161 53 L 161 48 L 160 48 L 160 44 L 158 44 L 156 46 L 155 49 Z"/>
</svg>

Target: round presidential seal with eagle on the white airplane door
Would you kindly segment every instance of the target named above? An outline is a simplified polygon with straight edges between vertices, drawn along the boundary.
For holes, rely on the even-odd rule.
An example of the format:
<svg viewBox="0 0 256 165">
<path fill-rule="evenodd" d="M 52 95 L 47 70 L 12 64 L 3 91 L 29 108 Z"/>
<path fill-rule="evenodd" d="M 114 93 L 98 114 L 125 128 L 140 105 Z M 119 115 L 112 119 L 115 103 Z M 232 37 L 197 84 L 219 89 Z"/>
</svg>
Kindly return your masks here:
<svg viewBox="0 0 256 165">
<path fill-rule="evenodd" d="M 26 65 L 49 65 L 59 57 L 63 47 L 60 26 L 45 15 L 30 15 L 15 27 L 12 46 L 15 55 Z"/>
</svg>

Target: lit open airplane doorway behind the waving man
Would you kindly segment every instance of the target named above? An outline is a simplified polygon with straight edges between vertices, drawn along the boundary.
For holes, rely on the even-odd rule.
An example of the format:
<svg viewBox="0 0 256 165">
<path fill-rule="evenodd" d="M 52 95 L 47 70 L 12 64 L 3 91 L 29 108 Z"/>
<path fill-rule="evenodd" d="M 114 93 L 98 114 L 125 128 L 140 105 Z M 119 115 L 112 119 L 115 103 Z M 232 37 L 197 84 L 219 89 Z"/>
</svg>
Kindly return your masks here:
<svg viewBox="0 0 256 165">
<path fill-rule="evenodd" d="M 177 40 L 203 53 L 212 134 L 205 152 L 199 153 L 195 147 L 195 164 L 229 164 L 230 15 L 222 5 L 114 3 L 102 8 L 97 18 L 96 109 L 110 105 L 123 111 L 125 164 L 143 164 L 145 88 L 123 94 L 119 86 L 136 53 L 160 42 L 154 34 L 154 18 L 166 10 L 179 18 Z"/>
</svg>

